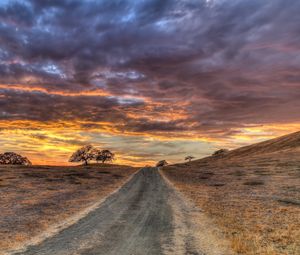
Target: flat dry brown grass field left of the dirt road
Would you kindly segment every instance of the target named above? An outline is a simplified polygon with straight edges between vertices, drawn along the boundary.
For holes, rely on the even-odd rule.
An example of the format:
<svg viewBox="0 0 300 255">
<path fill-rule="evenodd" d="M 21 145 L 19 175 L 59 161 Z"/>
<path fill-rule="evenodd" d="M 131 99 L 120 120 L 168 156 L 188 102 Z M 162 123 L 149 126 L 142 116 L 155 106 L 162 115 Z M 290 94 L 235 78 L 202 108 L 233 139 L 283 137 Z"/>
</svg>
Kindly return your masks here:
<svg viewBox="0 0 300 255">
<path fill-rule="evenodd" d="M 0 251 L 93 205 L 137 170 L 117 165 L 0 166 Z"/>
</svg>

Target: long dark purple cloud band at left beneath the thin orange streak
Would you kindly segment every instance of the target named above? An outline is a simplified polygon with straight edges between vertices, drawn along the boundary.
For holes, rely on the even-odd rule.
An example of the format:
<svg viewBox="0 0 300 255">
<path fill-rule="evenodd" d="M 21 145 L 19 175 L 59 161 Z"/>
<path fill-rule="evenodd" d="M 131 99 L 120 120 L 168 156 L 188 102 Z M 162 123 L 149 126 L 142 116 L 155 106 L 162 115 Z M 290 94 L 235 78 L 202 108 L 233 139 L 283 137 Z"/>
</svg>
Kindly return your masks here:
<svg viewBox="0 0 300 255">
<path fill-rule="evenodd" d="M 3 91 L 2 118 L 28 120 L 114 121 L 124 118 L 117 100 L 105 97 L 65 97 L 38 92 Z"/>
</svg>

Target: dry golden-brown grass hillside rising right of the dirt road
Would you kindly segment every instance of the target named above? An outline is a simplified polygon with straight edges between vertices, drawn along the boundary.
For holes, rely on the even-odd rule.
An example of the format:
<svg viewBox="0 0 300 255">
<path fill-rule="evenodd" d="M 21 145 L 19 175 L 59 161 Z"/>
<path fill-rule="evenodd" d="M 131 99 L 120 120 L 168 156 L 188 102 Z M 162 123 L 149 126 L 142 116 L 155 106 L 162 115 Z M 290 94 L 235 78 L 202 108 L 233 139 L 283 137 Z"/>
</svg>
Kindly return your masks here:
<svg viewBox="0 0 300 255">
<path fill-rule="evenodd" d="M 300 132 L 163 173 L 238 254 L 300 254 Z"/>
</svg>

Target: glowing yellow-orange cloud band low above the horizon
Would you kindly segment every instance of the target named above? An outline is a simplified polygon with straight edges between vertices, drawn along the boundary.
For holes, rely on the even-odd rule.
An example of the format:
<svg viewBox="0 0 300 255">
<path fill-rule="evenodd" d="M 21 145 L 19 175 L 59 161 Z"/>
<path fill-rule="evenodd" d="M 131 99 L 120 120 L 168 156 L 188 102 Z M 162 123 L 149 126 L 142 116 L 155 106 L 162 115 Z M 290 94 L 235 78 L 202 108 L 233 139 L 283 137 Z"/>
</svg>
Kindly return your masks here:
<svg viewBox="0 0 300 255">
<path fill-rule="evenodd" d="M 88 122 L 39 122 L 39 121 L 0 121 L 0 141 L 2 151 L 15 151 L 29 157 L 35 164 L 67 165 L 68 157 L 78 147 L 84 144 L 94 144 L 96 146 L 108 146 L 104 140 L 112 140 L 117 144 L 117 162 L 119 164 L 145 165 L 153 164 L 155 159 L 150 160 L 143 156 L 131 155 L 128 150 L 128 143 L 124 142 L 124 137 L 135 137 L 142 141 L 168 143 L 188 141 L 210 143 L 215 147 L 226 146 L 235 148 L 240 145 L 251 144 L 261 140 L 270 139 L 279 135 L 284 135 L 300 129 L 300 123 L 289 123 L 278 125 L 252 126 L 236 130 L 229 137 L 217 138 L 206 133 L 197 132 L 170 132 L 145 133 L 145 132 L 122 132 L 110 122 L 99 122 L 97 127 L 83 128 Z M 95 138 L 96 137 L 96 138 Z M 102 137 L 97 139 L 97 137 Z M 123 138 L 122 138 L 123 137 Z M 140 137 L 140 138 L 138 138 Z M 134 142 L 131 146 L 135 145 Z M 153 148 L 155 151 L 156 148 Z M 158 148 L 157 151 L 160 151 Z M 176 160 L 176 155 L 175 155 Z M 180 161 L 181 158 L 178 158 Z"/>
</svg>

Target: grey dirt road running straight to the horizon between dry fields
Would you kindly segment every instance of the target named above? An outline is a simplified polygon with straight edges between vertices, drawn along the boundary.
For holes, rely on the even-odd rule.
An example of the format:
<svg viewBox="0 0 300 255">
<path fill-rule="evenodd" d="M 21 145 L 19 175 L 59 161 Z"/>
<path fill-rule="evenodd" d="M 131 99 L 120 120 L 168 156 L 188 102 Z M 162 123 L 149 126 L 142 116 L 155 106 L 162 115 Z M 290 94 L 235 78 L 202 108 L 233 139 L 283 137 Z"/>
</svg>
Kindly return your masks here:
<svg viewBox="0 0 300 255">
<path fill-rule="evenodd" d="M 203 254 L 190 211 L 156 168 L 143 168 L 75 225 L 17 254 Z"/>
</svg>

